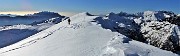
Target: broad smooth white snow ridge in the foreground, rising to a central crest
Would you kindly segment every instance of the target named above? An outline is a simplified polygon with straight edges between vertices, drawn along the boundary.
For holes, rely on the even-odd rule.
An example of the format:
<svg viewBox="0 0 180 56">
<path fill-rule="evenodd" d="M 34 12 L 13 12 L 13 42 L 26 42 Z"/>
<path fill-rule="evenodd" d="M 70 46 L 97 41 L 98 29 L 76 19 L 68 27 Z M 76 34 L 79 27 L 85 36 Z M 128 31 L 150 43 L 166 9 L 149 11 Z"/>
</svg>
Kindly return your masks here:
<svg viewBox="0 0 180 56">
<path fill-rule="evenodd" d="M 178 56 L 102 28 L 98 17 L 74 15 L 70 25 L 65 20 L 1 48 L 0 56 Z"/>
</svg>

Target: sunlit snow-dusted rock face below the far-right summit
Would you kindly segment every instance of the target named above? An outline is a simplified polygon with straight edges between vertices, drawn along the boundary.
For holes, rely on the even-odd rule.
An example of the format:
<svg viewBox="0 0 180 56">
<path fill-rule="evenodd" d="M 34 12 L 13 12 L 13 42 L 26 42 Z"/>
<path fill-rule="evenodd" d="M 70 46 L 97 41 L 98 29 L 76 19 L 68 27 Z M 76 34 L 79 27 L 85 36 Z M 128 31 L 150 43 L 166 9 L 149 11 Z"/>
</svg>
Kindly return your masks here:
<svg viewBox="0 0 180 56">
<path fill-rule="evenodd" d="M 141 27 L 143 37 L 149 44 L 169 51 L 177 51 L 180 31 L 177 25 L 169 22 L 152 21 Z"/>
</svg>

